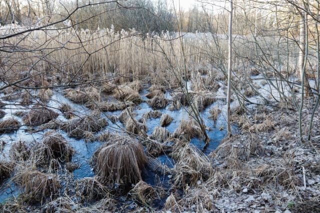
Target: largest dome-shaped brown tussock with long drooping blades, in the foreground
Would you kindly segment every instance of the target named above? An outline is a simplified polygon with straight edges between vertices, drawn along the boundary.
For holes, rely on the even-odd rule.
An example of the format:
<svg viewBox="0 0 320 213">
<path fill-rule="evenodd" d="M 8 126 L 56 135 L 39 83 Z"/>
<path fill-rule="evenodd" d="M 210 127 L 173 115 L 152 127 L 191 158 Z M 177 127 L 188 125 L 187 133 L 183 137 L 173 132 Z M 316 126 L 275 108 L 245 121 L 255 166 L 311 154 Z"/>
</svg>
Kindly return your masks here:
<svg viewBox="0 0 320 213">
<path fill-rule="evenodd" d="M 142 145 L 128 136 L 114 135 L 94 155 L 96 174 L 104 184 L 135 184 L 147 163 Z"/>
</svg>

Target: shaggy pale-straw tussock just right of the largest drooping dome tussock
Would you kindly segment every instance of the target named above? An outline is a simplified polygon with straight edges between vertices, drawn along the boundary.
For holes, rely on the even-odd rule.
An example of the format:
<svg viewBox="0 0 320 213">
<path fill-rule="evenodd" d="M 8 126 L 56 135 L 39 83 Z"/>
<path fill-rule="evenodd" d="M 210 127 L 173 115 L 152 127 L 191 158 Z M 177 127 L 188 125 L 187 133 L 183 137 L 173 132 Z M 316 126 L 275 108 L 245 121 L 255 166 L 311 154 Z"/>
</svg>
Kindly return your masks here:
<svg viewBox="0 0 320 213">
<path fill-rule="evenodd" d="M 198 181 L 206 181 L 211 176 L 210 160 L 195 147 L 187 144 L 175 155 L 178 159 L 172 169 L 175 187 L 195 186 Z"/>
</svg>

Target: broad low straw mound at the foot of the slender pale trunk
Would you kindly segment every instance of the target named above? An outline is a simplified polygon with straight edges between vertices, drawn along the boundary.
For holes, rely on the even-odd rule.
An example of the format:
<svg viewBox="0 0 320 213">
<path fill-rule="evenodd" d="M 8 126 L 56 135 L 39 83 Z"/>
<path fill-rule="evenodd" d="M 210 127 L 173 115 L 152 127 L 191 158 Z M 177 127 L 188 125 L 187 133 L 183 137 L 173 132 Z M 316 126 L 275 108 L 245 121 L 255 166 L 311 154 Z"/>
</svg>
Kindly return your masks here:
<svg viewBox="0 0 320 213">
<path fill-rule="evenodd" d="M 221 141 L 220 145 L 210 155 L 216 159 L 239 159 L 248 161 L 253 155 L 261 156 L 264 150 L 259 141 L 254 138 L 243 139 L 241 135 L 233 135 Z"/>
</svg>

